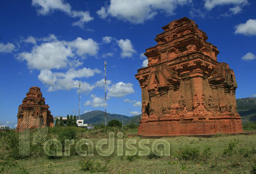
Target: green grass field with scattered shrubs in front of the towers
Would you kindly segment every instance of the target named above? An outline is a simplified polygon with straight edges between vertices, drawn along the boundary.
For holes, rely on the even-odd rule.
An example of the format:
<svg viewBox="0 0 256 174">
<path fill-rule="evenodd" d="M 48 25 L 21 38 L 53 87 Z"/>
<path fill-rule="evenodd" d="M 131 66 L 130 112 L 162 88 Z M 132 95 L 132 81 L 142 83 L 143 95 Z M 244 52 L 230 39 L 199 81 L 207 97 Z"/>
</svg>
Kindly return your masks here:
<svg viewBox="0 0 256 174">
<path fill-rule="evenodd" d="M 122 131 L 123 138 L 116 134 Z M 103 157 L 95 150 L 96 143 L 115 133 L 114 153 Z M 225 135 L 218 134 L 210 138 L 140 138 L 137 129 L 119 128 L 53 128 L 49 129 L 46 139 L 63 138 L 89 139 L 93 142 L 92 156 L 77 155 L 74 147 L 70 156 L 49 157 L 41 145 L 31 145 L 31 155 L 20 158 L 19 133 L 0 132 L 0 173 L 256 173 L 256 134 Z M 140 156 L 117 155 L 119 140 L 124 143 L 124 154 L 130 151 L 125 143 L 133 139 L 133 146 L 142 151 L 138 143 L 149 139 L 150 154 Z M 170 144 L 170 155 L 154 155 L 151 150 L 155 141 L 164 140 Z M 83 146 L 84 150 L 86 146 Z M 103 146 L 106 149 L 107 146 Z M 163 150 L 163 146 L 158 146 Z M 17 155 L 18 153 L 18 155 Z"/>
</svg>

